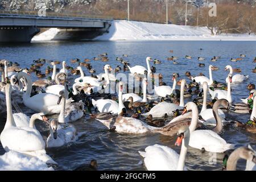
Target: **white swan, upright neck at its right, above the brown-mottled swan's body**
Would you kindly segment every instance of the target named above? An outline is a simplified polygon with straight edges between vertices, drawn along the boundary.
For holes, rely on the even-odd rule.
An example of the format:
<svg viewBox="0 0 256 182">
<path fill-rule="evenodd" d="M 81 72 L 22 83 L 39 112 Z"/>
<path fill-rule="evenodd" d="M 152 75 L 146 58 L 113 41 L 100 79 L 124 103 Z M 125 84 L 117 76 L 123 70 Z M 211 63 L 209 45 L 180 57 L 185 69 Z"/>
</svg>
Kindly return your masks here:
<svg viewBox="0 0 256 182">
<path fill-rule="evenodd" d="M 120 114 L 122 109 L 125 108 L 123 105 L 122 101 L 122 91 L 123 91 L 123 82 L 119 82 L 119 93 L 118 93 L 118 102 L 115 102 L 110 99 L 99 99 L 99 100 L 94 100 L 92 99 L 92 104 L 95 108 L 102 112 L 109 112 L 112 111 L 114 114 Z"/>
</svg>

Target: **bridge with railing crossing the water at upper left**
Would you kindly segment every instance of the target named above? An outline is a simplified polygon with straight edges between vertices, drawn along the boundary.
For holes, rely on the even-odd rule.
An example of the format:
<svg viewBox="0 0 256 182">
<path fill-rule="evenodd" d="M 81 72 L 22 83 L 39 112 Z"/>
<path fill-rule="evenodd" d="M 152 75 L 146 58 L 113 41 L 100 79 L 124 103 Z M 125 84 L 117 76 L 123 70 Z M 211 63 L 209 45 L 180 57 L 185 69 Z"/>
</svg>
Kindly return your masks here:
<svg viewBox="0 0 256 182">
<path fill-rule="evenodd" d="M 0 42 L 31 42 L 40 28 L 60 28 L 53 40 L 93 39 L 108 31 L 111 18 L 82 14 L 0 10 Z"/>
</svg>

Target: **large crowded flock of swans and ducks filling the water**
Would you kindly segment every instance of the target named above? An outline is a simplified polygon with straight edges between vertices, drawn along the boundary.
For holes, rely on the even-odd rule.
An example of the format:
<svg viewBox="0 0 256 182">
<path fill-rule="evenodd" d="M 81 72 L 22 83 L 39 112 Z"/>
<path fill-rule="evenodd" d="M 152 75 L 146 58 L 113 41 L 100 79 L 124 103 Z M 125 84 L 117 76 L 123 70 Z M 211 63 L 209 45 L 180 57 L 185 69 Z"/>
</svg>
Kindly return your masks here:
<svg viewBox="0 0 256 182">
<path fill-rule="evenodd" d="M 100 55 L 100 59 L 106 61 L 106 55 Z M 190 59 L 189 56 L 186 58 Z M 100 59 L 94 58 L 95 61 Z M 177 136 L 175 145 L 181 146 L 180 154 L 160 144 L 138 151 L 148 170 L 186 170 L 189 147 L 202 152 L 220 153 L 236 148 L 230 154 L 225 169 L 236 170 L 239 159 L 247 161 L 246 170 L 256 169 L 256 152 L 251 146 L 237 148 L 221 137 L 225 132 L 224 126 L 240 127 L 247 132 L 256 133 L 256 90 L 251 89 L 247 98 L 241 98 L 241 103 L 233 103 L 232 100 L 232 84 L 243 82 L 249 76 L 234 74 L 233 68 L 227 65 L 225 71 L 229 72 L 226 82 L 217 82 L 213 80 L 214 68 L 209 65 L 209 78 L 202 75 L 193 77 L 186 73 L 190 80 L 187 82 L 186 79 L 178 80 L 179 74 L 174 73 L 174 84 L 171 87 L 162 81 L 162 74 L 154 74 L 156 68 L 150 67 L 151 57 L 146 58 L 147 68 L 141 65 L 131 67 L 122 58 L 116 60 L 141 83 L 139 93 L 127 93 L 127 90 L 134 86 L 127 84 L 125 80 L 118 80 L 116 75 L 121 67 L 113 71 L 109 64 L 105 64 L 104 73 L 96 76 L 93 75 L 95 70 L 92 66 L 86 63 L 89 61 L 87 59 L 82 63 L 79 59 L 71 60 L 72 63 L 79 63 L 75 69 L 68 67 L 67 62 L 63 61 L 60 70 L 56 67 L 58 61 L 49 61 L 46 72 L 52 72 L 52 76 L 32 82 L 32 72 L 39 78 L 46 76 L 40 72 L 40 67 L 47 64 L 47 60 L 34 60 L 35 64 L 32 64 L 31 68 L 20 68 L 17 63 L 15 65 L 10 61 L 1 60 L 4 68 L 1 69 L 0 107 L 7 117 L 0 139 L 6 151 L 5 155 L 22 156 L 24 160 L 20 163 L 23 162 L 26 166 L 23 169 L 29 168 L 29 160 L 37 160 L 40 165 L 57 165 L 47 154 L 46 148 L 76 142 L 84 133 L 78 133 L 72 122 L 87 114 L 116 133 L 158 133 L 170 137 Z M 155 59 L 154 63 L 160 62 Z M 85 76 L 82 67 L 88 68 L 92 74 Z M 156 79 L 159 80 L 158 85 L 155 85 Z M 151 85 L 148 83 L 152 83 L 154 94 L 147 93 L 148 85 Z M 177 89 L 177 86 L 180 86 L 180 89 Z M 191 101 L 185 103 L 185 98 Z M 35 114 L 28 117 L 22 113 L 20 105 L 33 110 Z M 91 108 L 94 108 L 93 112 Z M 246 123 L 228 121 L 225 116 L 227 112 L 251 113 L 251 116 Z M 44 140 L 36 129 L 35 122 L 47 123 L 47 140 Z M 4 159 L 1 156 L 0 163 L 2 160 Z M 0 164 L 0 167 L 12 169 L 10 164 Z"/>
</svg>

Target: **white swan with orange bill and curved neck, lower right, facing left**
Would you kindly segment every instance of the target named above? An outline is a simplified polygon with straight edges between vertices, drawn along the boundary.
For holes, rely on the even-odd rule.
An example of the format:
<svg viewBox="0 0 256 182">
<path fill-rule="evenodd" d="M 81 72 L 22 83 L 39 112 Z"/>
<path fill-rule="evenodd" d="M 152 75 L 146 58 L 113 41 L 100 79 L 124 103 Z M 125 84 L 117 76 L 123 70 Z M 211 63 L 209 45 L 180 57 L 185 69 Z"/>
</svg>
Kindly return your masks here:
<svg viewBox="0 0 256 182">
<path fill-rule="evenodd" d="M 183 113 L 186 113 L 187 110 L 192 110 L 192 118 L 197 117 L 198 120 L 198 109 L 194 102 L 188 102 L 184 107 Z M 189 126 L 189 146 L 199 150 L 204 149 L 205 151 L 220 153 L 234 147 L 233 144 L 226 143 L 223 138 L 212 130 L 195 130 L 196 124 L 197 122 L 191 122 Z M 219 127 L 222 127 L 222 125 Z"/>
</svg>

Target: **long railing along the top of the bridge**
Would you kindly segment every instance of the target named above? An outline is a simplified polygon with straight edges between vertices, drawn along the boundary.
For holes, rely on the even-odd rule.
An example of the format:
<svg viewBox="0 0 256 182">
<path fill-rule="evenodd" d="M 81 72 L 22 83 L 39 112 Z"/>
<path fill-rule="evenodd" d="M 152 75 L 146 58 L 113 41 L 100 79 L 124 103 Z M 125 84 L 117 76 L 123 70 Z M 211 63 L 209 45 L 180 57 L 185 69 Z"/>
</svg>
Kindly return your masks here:
<svg viewBox="0 0 256 182">
<path fill-rule="evenodd" d="M 93 14 L 85 14 L 82 12 L 53 12 L 53 11 L 46 11 L 45 16 L 40 14 L 40 10 L 10 10 L 10 9 L 0 9 L 0 14 L 5 15 L 23 15 L 23 16 L 38 16 L 38 17 L 55 17 L 55 18 L 86 18 L 86 19 L 109 19 L 112 20 L 112 16 L 105 16 L 105 15 L 93 15 Z"/>
</svg>

